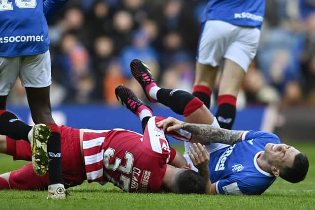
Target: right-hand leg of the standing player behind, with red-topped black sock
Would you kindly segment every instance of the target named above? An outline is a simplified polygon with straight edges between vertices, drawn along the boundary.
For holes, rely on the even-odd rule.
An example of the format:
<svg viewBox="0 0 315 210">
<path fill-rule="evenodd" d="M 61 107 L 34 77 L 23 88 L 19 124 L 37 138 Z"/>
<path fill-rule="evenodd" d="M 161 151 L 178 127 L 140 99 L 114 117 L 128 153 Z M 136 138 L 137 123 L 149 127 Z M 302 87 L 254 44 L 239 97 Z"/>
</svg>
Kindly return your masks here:
<svg viewBox="0 0 315 210">
<path fill-rule="evenodd" d="M 231 129 L 236 116 L 236 98 L 245 77 L 244 69 L 225 59 L 221 74 L 216 117 L 222 128 Z"/>
</svg>

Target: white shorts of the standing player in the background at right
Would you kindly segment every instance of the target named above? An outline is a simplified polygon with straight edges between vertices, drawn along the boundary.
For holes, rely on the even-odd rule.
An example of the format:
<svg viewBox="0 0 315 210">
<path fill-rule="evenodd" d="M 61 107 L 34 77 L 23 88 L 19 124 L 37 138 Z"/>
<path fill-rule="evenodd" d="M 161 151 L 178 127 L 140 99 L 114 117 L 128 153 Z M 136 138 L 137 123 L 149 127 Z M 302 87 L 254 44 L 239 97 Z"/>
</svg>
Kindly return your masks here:
<svg viewBox="0 0 315 210">
<path fill-rule="evenodd" d="M 240 65 L 245 72 L 256 55 L 260 30 L 209 20 L 199 38 L 197 61 L 218 66 L 223 58 Z"/>
</svg>

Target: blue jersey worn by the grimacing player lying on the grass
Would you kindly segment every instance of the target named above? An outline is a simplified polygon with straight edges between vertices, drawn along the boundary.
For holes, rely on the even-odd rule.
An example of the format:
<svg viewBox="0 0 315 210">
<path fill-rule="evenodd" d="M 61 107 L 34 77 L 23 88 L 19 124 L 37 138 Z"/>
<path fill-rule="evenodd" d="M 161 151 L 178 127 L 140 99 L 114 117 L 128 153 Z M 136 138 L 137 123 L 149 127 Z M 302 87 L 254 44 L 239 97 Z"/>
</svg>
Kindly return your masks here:
<svg viewBox="0 0 315 210">
<path fill-rule="evenodd" d="M 261 194 L 275 180 L 259 168 L 257 157 L 267 143 L 280 144 L 278 136 L 262 131 L 248 131 L 243 141 L 210 154 L 211 183 L 219 194 Z"/>
</svg>

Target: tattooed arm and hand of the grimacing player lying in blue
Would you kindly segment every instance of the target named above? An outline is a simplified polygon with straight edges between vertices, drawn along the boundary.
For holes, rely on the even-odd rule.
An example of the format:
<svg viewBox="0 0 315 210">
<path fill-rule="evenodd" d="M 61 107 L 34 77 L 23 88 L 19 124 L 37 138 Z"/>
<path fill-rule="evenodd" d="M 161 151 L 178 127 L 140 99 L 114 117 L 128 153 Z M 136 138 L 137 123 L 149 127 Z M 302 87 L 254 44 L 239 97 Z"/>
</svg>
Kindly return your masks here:
<svg viewBox="0 0 315 210">
<path fill-rule="evenodd" d="M 167 129 L 167 131 L 183 129 L 189 131 L 195 137 L 199 138 L 203 144 L 206 143 L 222 143 L 233 145 L 242 141 L 244 131 L 227 130 L 218 128 L 208 124 L 195 124 L 183 122 L 175 118 L 169 117 L 157 123 L 159 127 Z"/>
</svg>

